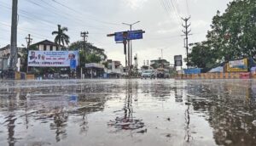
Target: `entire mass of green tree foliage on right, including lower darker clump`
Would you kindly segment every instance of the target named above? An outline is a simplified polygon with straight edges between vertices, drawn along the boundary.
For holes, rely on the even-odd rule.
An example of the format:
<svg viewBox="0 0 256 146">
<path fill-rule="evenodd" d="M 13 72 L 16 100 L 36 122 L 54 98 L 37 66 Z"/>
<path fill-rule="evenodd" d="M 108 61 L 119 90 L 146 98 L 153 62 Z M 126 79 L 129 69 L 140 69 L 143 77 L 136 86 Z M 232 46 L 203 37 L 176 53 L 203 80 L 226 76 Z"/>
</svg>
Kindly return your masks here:
<svg viewBox="0 0 256 146">
<path fill-rule="evenodd" d="M 190 65 L 206 68 L 210 66 L 203 64 L 218 64 L 220 61 L 256 55 L 255 0 L 234 0 L 229 3 L 224 14 L 218 11 L 213 17 L 211 28 L 207 32 L 206 42 L 193 45 L 189 54 Z M 207 63 L 198 61 L 199 58 Z"/>
</svg>

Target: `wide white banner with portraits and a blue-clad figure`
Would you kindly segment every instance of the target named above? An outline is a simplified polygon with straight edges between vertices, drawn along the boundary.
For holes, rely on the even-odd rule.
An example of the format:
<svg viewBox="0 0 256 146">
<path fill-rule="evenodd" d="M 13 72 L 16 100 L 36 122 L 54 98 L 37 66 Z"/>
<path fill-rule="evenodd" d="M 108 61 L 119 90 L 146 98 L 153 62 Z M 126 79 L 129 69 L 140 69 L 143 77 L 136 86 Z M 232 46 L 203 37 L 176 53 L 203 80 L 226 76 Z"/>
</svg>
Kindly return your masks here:
<svg viewBox="0 0 256 146">
<path fill-rule="evenodd" d="M 29 51 L 27 65 L 32 67 L 70 67 L 79 64 L 78 51 Z"/>
</svg>

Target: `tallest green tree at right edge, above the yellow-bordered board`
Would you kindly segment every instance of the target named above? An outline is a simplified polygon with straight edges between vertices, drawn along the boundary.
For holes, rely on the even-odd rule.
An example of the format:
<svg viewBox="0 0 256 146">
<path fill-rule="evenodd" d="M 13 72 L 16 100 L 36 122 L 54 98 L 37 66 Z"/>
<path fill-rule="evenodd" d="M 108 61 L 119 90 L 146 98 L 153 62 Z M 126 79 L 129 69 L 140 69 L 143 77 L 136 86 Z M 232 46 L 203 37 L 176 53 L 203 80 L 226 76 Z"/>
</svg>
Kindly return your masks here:
<svg viewBox="0 0 256 146">
<path fill-rule="evenodd" d="M 224 60 L 253 57 L 256 54 L 256 1 L 235 0 L 224 14 L 212 19 L 207 40 Z"/>
</svg>

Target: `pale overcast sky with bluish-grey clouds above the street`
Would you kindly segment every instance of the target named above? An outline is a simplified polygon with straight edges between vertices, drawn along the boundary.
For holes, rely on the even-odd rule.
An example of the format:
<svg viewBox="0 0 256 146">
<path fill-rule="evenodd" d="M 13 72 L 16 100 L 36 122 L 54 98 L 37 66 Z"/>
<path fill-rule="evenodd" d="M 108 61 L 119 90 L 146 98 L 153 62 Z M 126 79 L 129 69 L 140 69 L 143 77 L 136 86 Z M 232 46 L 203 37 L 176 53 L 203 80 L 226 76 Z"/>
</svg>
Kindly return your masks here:
<svg viewBox="0 0 256 146">
<path fill-rule="evenodd" d="M 191 15 L 189 43 L 206 39 L 212 17 L 217 10 L 224 12 L 231 0 L 19 0 L 18 46 L 26 45 L 25 37 L 32 35 L 32 43 L 48 39 L 54 41 L 52 31 L 57 25 L 67 26 L 71 42 L 81 40 L 80 32 L 89 31 L 88 41 L 104 48 L 108 59 L 120 60 L 125 55 L 123 45 L 114 42 L 108 33 L 127 31 L 122 25 L 140 21 L 133 29 L 146 31 L 143 40 L 133 41 L 133 53 L 143 60 L 163 57 L 173 63 L 173 56 L 182 54 L 183 27 L 179 17 Z M 0 1 L 0 47 L 10 42 L 11 0 Z"/>
</svg>

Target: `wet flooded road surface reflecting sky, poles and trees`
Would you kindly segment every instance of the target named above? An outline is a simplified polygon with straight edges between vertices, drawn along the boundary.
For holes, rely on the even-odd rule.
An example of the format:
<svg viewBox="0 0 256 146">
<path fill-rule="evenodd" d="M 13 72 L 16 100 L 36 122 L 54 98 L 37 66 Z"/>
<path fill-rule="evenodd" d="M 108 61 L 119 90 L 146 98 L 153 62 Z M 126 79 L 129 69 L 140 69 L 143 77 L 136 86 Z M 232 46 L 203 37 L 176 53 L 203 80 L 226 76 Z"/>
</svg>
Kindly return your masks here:
<svg viewBox="0 0 256 146">
<path fill-rule="evenodd" d="M 256 81 L 1 81 L 0 145 L 256 145 Z"/>
</svg>

